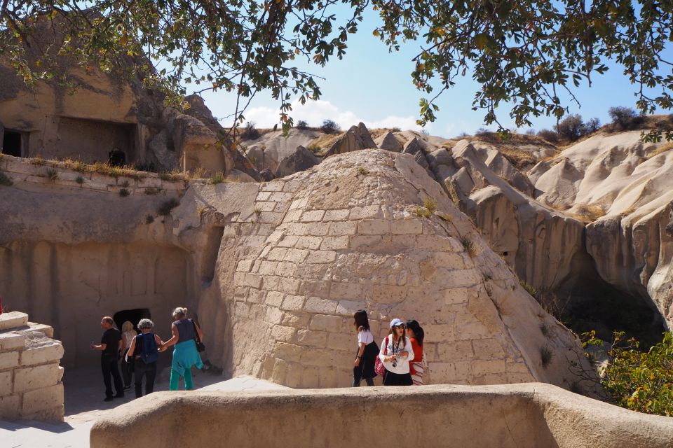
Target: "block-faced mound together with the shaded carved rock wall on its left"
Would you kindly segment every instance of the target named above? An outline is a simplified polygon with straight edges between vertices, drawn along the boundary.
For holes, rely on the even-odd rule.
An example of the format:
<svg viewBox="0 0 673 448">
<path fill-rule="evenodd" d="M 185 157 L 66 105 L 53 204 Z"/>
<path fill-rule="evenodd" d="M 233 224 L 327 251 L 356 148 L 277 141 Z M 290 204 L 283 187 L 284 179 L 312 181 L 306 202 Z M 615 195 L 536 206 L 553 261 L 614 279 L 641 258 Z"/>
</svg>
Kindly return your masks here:
<svg viewBox="0 0 673 448">
<path fill-rule="evenodd" d="M 165 193 L 139 195 L 160 181 L 149 176 L 131 179 L 128 197 L 123 178 L 90 190 L 65 168 L 49 179 L 1 165 L 14 185 L 0 187 L 0 284 L 53 323 L 68 363 L 89 362 L 74 335 L 97 331 L 90 316 L 147 309 L 163 335 L 184 304 L 225 372 L 345 385 L 352 314 L 365 308 L 376 339 L 394 316 L 423 322 L 429 382 L 579 387 L 575 337 L 407 155 L 357 151 L 269 183 L 161 181 Z"/>
</svg>

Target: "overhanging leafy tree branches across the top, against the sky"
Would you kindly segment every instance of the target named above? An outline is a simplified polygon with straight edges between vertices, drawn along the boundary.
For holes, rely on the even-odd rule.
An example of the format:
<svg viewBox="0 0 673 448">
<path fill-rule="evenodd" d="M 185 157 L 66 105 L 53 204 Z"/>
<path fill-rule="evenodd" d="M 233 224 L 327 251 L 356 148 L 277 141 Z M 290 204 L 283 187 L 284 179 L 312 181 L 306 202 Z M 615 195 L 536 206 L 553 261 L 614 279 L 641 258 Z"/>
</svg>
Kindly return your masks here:
<svg viewBox="0 0 673 448">
<path fill-rule="evenodd" d="M 374 36 L 391 51 L 402 41 L 419 43 L 412 81 L 426 94 L 421 125 L 435 120 L 437 98 L 460 76 L 480 83 L 473 108 L 484 110 L 487 124 L 500 125 L 496 108 L 504 103 L 517 126 L 541 115 L 560 120 L 564 98 L 576 101 L 573 87 L 591 83 L 609 60 L 634 84 L 639 111 L 673 106 L 670 1 L 4 0 L 0 8 L 0 27 L 10 31 L 0 51 L 29 82 L 53 76 L 48 55 L 103 69 L 119 52 L 147 55 L 161 68 L 135 69 L 165 90 L 182 94 L 198 83 L 235 92 L 238 122 L 254 94 L 268 89 L 290 125 L 294 97 L 320 97 L 318 77 L 295 58 L 319 66 L 341 58 L 367 10 L 380 15 Z M 64 23 L 64 38 L 32 36 L 39 15 Z"/>
</svg>

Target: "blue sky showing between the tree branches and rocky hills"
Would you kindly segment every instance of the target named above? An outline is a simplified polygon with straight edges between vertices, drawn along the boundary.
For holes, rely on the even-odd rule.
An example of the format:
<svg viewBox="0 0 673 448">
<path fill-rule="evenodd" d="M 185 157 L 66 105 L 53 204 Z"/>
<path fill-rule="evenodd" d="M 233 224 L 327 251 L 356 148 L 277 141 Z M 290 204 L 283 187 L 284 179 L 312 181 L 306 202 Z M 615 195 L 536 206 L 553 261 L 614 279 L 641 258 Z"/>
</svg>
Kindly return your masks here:
<svg viewBox="0 0 673 448">
<path fill-rule="evenodd" d="M 423 94 L 412 85 L 410 74 L 414 69 L 412 58 L 418 53 L 419 43 L 407 43 L 400 52 L 389 53 L 386 45 L 372 36 L 377 24 L 378 18 L 369 13 L 358 34 L 349 36 L 344 59 L 334 58 L 325 67 L 311 66 L 311 73 L 325 78 L 319 81 L 322 97 L 318 102 L 295 108 L 291 113 L 295 123 L 306 120 L 309 125 L 320 125 L 322 120 L 331 119 L 344 129 L 358 124 L 358 121 L 363 121 L 368 127 L 419 129 L 415 121 Z M 581 107 L 566 102 L 570 113 L 580 113 L 585 120 L 597 117 L 601 123 L 609 123 L 607 111 L 611 106 L 634 108 L 637 87 L 629 83 L 619 66 L 610 67 L 603 76 L 593 74 L 591 88 L 587 85 L 573 88 Z M 484 111 L 472 110 L 477 83 L 469 75 L 459 79 L 440 97 L 437 120 L 426 126 L 430 134 L 448 138 L 461 132 L 473 133 L 484 127 Z M 203 97 L 216 117 L 232 113 L 233 96 L 219 91 L 204 93 Z M 272 127 L 278 123 L 279 105 L 268 94 L 258 94 L 244 115 L 257 127 Z M 506 107 L 501 107 L 496 113 L 503 125 L 515 128 Z M 531 122 L 534 129 L 540 130 L 551 128 L 556 120 L 540 117 L 531 118 Z M 495 125 L 490 126 L 491 130 L 495 128 Z"/>
</svg>

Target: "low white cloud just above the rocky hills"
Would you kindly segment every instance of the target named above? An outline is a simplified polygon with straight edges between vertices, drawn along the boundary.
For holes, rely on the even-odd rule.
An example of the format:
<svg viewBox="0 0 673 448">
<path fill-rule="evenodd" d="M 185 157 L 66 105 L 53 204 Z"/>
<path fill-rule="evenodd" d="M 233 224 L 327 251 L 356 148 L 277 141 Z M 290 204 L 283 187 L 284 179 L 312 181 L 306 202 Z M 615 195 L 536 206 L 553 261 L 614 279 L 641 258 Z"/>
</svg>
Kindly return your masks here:
<svg viewBox="0 0 673 448">
<path fill-rule="evenodd" d="M 280 113 L 278 109 L 270 107 L 253 107 L 244 113 L 245 120 L 253 122 L 257 127 L 273 127 L 279 123 Z M 333 120 L 341 129 L 348 129 L 353 125 L 362 122 L 369 128 L 376 127 L 399 127 L 402 130 L 420 130 L 416 125 L 416 118 L 413 116 L 400 117 L 389 115 L 385 118 L 368 120 L 358 117 L 353 111 L 342 111 L 334 104 L 319 99 L 318 101 L 308 101 L 306 104 L 299 104 L 299 101 L 292 102 L 292 111 L 290 116 L 294 118 L 294 123 L 299 120 L 305 120 L 309 126 L 320 126 L 324 120 Z M 430 130 L 430 127 L 428 127 Z"/>
</svg>

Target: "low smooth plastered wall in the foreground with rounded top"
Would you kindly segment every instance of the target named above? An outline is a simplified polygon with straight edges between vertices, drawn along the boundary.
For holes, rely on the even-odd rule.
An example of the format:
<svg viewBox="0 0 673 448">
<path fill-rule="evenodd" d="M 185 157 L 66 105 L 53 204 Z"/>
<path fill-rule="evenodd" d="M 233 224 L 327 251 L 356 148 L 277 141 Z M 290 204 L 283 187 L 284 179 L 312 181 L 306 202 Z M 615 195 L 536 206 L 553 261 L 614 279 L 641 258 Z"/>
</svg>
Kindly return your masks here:
<svg viewBox="0 0 673 448">
<path fill-rule="evenodd" d="M 218 447 L 225 438 L 233 447 L 669 448 L 673 420 L 539 383 L 158 392 L 98 419 L 90 442 Z"/>
</svg>

